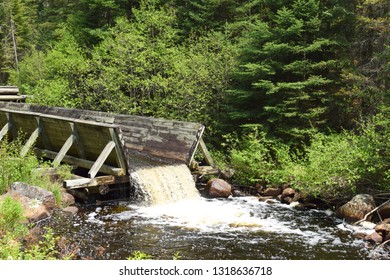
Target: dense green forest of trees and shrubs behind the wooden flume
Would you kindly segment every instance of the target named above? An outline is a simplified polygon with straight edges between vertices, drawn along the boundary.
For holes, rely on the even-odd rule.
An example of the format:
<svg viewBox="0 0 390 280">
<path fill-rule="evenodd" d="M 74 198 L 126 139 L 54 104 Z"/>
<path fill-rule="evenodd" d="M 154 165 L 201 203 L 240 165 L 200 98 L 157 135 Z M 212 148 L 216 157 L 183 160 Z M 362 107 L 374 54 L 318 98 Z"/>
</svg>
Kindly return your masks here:
<svg viewBox="0 0 390 280">
<path fill-rule="evenodd" d="M 388 0 L 2 0 L 0 85 L 199 122 L 237 184 L 390 191 Z"/>
</svg>

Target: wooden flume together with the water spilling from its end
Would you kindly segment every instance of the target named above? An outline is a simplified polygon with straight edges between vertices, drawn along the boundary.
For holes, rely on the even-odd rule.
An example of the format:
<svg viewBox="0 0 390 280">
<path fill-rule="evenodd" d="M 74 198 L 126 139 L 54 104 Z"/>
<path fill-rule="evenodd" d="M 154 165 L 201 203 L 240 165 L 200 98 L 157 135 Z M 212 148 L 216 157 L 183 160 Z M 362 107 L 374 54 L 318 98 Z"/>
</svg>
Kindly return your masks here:
<svg viewBox="0 0 390 280">
<path fill-rule="evenodd" d="M 200 142 L 205 149 L 201 124 L 0 102 L 0 128 L 0 140 L 24 133 L 23 153 L 86 169 L 64 182 L 68 190 L 130 183 L 150 204 L 196 193 L 188 166 Z"/>
</svg>

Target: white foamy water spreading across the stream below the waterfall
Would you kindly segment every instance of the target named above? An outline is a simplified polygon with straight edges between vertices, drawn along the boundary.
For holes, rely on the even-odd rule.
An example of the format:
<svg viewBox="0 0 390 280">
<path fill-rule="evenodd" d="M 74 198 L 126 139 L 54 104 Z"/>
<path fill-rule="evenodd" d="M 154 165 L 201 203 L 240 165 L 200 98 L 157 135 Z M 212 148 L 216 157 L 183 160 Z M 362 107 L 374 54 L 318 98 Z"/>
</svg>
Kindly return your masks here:
<svg viewBox="0 0 390 280">
<path fill-rule="evenodd" d="M 292 207 L 270 206 L 255 197 L 228 200 L 196 198 L 154 206 L 129 206 L 129 211 L 112 214 L 113 220 L 137 220 L 144 225 L 170 227 L 207 234 L 248 234 L 250 232 L 300 236 L 310 245 L 332 241 L 334 237 L 318 227 L 296 224 L 288 217 Z M 278 209 L 280 210 L 278 212 Z M 282 213 L 283 212 L 283 213 Z M 325 216 L 325 214 L 324 214 Z"/>
</svg>

